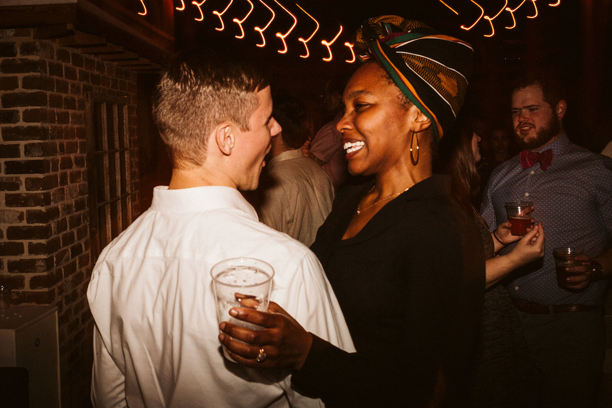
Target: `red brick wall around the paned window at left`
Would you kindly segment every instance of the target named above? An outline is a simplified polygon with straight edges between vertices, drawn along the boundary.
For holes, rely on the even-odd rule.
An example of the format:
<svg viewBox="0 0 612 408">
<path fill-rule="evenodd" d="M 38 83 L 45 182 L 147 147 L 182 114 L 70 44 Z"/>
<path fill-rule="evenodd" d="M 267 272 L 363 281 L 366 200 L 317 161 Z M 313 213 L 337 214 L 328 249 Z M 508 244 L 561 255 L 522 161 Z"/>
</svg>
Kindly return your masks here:
<svg viewBox="0 0 612 408">
<path fill-rule="evenodd" d="M 0 30 L 0 280 L 15 304 L 58 306 L 64 407 L 87 403 L 91 379 L 86 92 L 127 96 L 137 189 L 136 74 Z"/>
</svg>

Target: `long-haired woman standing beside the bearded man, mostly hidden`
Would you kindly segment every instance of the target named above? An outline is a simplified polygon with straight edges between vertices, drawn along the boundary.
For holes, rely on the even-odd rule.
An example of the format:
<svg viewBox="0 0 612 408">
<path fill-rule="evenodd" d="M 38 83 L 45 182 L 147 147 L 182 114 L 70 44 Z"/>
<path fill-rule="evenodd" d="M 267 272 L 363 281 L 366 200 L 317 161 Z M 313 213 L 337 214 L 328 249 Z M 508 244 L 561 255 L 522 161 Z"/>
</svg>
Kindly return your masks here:
<svg viewBox="0 0 612 408">
<path fill-rule="evenodd" d="M 544 231 L 541 224 L 523 237 L 510 234 L 510 223 L 490 232 L 474 206 L 479 190 L 476 163 L 480 161 L 480 137 L 465 117 L 440 142 L 436 171 L 449 174 L 452 196 L 472 214 L 480 229 L 485 248 L 486 285 L 482 328 L 476 358 L 476 371 L 469 406 L 533 407 L 534 381 L 529 372 L 526 343 L 515 306 L 501 280 L 513 270 L 542 258 Z M 510 253 L 494 256 L 511 242 L 519 241 Z"/>
</svg>

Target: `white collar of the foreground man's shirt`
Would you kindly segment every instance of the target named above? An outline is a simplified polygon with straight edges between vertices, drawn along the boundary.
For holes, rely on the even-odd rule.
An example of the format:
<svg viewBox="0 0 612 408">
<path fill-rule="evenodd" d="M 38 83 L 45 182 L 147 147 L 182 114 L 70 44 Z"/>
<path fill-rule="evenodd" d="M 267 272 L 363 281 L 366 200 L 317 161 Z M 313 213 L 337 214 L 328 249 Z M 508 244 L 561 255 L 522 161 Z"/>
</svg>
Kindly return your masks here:
<svg viewBox="0 0 612 408">
<path fill-rule="evenodd" d="M 206 186 L 168 190 L 168 186 L 157 186 L 153 190 L 151 209 L 159 212 L 196 212 L 234 208 L 258 220 L 253 206 L 236 188 Z"/>
</svg>

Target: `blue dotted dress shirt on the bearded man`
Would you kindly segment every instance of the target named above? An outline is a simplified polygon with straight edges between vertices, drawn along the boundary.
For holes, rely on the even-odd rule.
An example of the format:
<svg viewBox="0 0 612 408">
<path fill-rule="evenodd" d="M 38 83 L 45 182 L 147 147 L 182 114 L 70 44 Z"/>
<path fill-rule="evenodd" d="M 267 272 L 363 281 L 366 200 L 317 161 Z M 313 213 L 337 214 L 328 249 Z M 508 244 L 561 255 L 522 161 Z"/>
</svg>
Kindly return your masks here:
<svg viewBox="0 0 612 408">
<path fill-rule="evenodd" d="M 543 305 L 603 303 L 607 280 L 582 292 L 558 286 L 553 248 L 577 247 L 592 258 L 612 246 L 612 159 L 594 154 L 562 135 L 542 150 L 553 149 L 553 162 L 521 168 L 518 155 L 494 169 L 481 207 L 491 229 L 507 221 L 504 204 L 533 201 L 535 222 L 545 231 L 543 259 L 513 271 L 506 280 L 511 297 Z M 508 253 L 515 244 L 500 254 Z"/>
</svg>

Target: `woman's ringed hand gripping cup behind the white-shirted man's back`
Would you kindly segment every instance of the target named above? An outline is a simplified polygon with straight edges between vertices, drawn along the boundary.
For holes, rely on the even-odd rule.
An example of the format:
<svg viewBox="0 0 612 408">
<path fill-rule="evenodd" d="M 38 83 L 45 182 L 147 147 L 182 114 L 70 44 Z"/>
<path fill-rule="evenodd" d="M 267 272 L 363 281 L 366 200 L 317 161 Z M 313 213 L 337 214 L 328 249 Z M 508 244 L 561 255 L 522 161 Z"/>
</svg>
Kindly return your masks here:
<svg viewBox="0 0 612 408">
<path fill-rule="evenodd" d="M 312 335 L 283 308 L 270 302 L 268 313 L 242 307 L 230 309 L 230 315 L 264 327 L 250 330 L 230 322 L 219 325 L 223 332 L 219 334 L 219 341 L 234 361 L 252 368 L 302 368 Z M 258 362 L 256 358 L 261 349 L 266 358 Z"/>
</svg>

